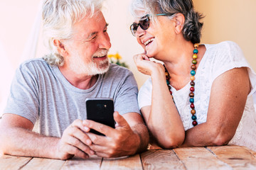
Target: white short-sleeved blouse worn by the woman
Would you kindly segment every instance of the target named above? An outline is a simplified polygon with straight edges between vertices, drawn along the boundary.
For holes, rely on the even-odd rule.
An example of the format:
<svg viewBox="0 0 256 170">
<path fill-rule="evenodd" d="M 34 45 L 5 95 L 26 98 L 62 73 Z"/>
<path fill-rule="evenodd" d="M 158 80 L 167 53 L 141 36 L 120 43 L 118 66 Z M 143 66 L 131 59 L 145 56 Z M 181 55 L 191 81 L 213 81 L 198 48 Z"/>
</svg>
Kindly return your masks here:
<svg viewBox="0 0 256 170">
<path fill-rule="evenodd" d="M 247 96 L 245 110 L 242 119 L 230 140 L 230 145 L 241 145 L 256 151 L 256 74 L 247 63 L 240 47 L 235 42 L 225 41 L 215 45 L 206 45 L 206 53 L 199 63 L 195 79 L 195 108 L 198 124 L 206 123 L 208 105 L 210 101 L 210 89 L 213 81 L 230 69 L 247 67 L 251 91 Z M 235 76 L 235 75 L 234 75 Z M 223 86 L 223 88 L 225 88 Z M 185 130 L 193 128 L 191 108 L 189 102 L 190 83 L 176 91 L 171 87 L 174 101 L 181 116 Z M 139 108 L 151 106 L 152 81 L 149 78 L 139 90 Z M 235 98 L 234 98 L 235 100 Z M 233 102 L 233 101 L 230 101 Z"/>
</svg>

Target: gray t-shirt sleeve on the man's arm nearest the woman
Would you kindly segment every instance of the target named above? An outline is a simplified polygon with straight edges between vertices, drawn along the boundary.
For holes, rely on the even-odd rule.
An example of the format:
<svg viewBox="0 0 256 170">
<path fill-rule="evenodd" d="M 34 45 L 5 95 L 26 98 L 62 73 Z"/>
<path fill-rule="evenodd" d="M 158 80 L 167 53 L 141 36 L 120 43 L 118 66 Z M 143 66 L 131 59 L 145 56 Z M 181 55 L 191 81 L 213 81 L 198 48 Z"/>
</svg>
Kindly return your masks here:
<svg viewBox="0 0 256 170">
<path fill-rule="evenodd" d="M 114 99 L 114 110 L 121 115 L 131 112 L 141 114 L 137 100 L 138 86 L 132 72 L 127 72 L 127 76 L 120 82 L 117 96 Z"/>
</svg>

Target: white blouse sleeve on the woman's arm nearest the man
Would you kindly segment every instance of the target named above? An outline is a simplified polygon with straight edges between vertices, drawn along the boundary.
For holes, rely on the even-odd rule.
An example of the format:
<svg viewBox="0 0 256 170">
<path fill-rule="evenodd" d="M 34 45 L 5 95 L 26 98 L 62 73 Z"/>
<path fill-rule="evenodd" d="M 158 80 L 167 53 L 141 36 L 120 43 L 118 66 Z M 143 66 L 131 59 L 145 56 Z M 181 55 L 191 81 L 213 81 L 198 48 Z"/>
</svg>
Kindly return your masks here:
<svg viewBox="0 0 256 170">
<path fill-rule="evenodd" d="M 139 89 L 138 101 L 139 109 L 144 106 L 151 106 L 152 96 L 152 81 L 151 78 L 147 79 L 143 86 Z"/>
</svg>

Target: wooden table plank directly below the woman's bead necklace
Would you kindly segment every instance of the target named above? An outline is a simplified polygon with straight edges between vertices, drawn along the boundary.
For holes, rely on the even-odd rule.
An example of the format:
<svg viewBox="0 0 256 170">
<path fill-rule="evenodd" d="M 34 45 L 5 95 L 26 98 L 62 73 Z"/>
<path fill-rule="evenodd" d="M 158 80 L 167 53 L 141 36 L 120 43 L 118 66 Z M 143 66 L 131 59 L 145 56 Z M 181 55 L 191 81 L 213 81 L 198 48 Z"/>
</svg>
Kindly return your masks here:
<svg viewBox="0 0 256 170">
<path fill-rule="evenodd" d="M 217 157 L 205 147 L 176 148 L 174 152 L 188 170 L 232 169 L 231 166 L 217 159 Z"/>
</svg>

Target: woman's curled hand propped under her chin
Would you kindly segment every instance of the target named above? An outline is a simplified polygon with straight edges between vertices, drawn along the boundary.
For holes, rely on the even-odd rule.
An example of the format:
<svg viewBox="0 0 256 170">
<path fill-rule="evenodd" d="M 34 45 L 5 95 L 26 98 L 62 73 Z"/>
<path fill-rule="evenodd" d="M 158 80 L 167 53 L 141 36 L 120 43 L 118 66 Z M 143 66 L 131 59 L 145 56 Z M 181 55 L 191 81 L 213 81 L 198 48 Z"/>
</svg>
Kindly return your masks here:
<svg viewBox="0 0 256 170">
<path fill-rule="evenodd" d="M 149 76 L 157 70 L 164 71 L 164 66 L 162 64 L 150 61 L 145 53 L 134 55 L 134 62 L 139 72 Z"/>
</svg>

